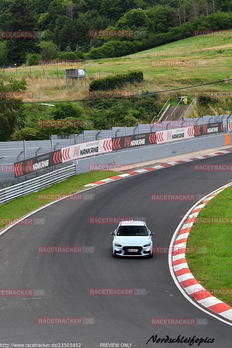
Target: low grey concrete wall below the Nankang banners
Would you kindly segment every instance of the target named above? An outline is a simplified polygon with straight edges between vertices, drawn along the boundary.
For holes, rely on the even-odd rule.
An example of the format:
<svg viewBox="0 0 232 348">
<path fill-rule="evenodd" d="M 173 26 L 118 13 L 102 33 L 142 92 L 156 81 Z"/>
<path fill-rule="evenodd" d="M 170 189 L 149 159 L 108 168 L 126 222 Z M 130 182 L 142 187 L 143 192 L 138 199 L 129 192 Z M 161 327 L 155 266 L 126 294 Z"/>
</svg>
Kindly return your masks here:
<svg viewBox="0 0 232 348">
<path fill-rule="evenodd" d="M 232 143 L 232 133 L 230 134 L 230 143 Z M 78 159 L 73 161 L 73 163 L 77 163 L 76 174 L 79 174 L 93 170 L 93 167 L 91 168 L 90 166 L 94 165 L 106 166 L 108 163 L 112 164 L 112 162 L 115 163 L 116 166 L 132 164 L 162 157 L 182 155 L 187 152 L 210 149 L 223 145 L 225 145 L 225 134 L 176 141 L 162 145 L 144 146 L 140 149 L 112 152 L 106 155 Z"/>
</svg>

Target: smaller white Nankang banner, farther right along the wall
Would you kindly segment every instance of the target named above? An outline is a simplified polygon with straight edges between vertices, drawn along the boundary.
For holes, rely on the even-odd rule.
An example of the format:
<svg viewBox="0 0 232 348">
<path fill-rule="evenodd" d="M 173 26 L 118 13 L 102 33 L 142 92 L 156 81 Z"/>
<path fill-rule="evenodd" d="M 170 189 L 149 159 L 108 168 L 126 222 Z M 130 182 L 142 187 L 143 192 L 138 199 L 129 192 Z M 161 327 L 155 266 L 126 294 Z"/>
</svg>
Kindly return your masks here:
<svg viewBox="0 0 232 348">
<path fill-rule="evenodd" d="M 193 126 L 169 130 L 160 130 L 159 132 L 156 132 L 157 144 L 190 138 L 194 138 Z"/>
</svg>

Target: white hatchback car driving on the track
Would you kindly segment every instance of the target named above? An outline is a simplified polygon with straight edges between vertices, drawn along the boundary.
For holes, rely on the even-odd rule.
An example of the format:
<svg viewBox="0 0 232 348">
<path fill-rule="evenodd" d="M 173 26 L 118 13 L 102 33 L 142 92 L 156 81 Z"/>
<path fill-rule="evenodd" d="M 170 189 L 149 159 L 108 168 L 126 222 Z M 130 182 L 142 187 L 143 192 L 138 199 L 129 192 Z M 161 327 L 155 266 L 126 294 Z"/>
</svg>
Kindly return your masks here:
<svg viewBox="0 0 232 348">
<path fill-rule="evenodd" d="M 144 221 L 121 221 L 118 228 L 111 232 L 113 256 L 150 256 L 152 253 L 151 232 Z"/>
</svg>

